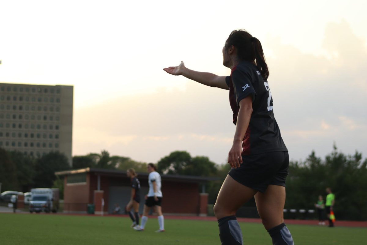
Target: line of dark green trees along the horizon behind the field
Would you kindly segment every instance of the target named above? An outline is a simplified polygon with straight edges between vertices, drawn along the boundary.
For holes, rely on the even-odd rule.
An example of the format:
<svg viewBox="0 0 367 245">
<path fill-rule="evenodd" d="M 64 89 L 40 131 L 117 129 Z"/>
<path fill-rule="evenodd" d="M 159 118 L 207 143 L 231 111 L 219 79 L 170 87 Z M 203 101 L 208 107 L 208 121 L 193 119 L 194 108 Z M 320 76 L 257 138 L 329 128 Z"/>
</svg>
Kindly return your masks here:
<svg viewBox="0 0 367 245">
<path fill-rule="evenodd" d="M 174 151 L 157 163 L 161 174 L 217 177 L 218 181 L 206 183 L 209 203 L 215 203 L 219 189 L 227 176 L 228 164 L 215 164 L 206 156 L 192 157 L 186 151 Z M 0 182 L 2 191 L 29 191 L 32 187 L 58 187 L 63 181 L 54 172 L 94 167 L 102 169 L 147 172 L 147 163 L 124 156 L 110 156 L 108 151 L 74 156 L 72 167 L 65 155 L 50 152 L 40 158 L 32 158 L 21 152 L 7 152 L 0 148 Z M 313 209 L 317 197 L 326 196 L 326 187 L 335 194 L 335 213 L 339 219 L 367 220 L 367 159 L 361 153 L 345 155 L 334 145 L 324 159 L 314 151 L 304 161 L 291 161 L 286 181 L 287 209 Z M 201 187 L 200 187 L 201 191 Z M 254 199 L 244 206 L 255 206 Z"/>
</svg>

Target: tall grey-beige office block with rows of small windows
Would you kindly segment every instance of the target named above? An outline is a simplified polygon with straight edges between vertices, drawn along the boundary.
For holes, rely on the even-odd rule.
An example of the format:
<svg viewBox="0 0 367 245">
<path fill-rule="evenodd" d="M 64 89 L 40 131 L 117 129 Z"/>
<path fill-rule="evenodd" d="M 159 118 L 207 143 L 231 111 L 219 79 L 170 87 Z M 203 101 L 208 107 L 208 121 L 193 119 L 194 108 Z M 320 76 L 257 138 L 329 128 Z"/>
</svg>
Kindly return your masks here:
<svg viewBox="0 0 367 245">
<path fill-rule="evenodd" d="M 0 147 L 72 164 L 73 86 L 0 83 Z"/>
</svg>

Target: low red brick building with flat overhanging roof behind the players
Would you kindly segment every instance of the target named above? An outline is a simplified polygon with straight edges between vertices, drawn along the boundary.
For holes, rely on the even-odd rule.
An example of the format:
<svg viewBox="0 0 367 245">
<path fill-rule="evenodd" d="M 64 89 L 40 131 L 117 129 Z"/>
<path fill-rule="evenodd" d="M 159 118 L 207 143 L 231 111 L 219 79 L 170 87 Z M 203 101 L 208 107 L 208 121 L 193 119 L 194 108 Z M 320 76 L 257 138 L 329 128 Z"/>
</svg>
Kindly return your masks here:
<svg viewBox="0 0 367 245">
<path fill-rule="evenodd" d="M 123 210 L 130 200 L 130 178 L 125 171 L 87 167 L 55 174 L 64 177 L 64 212 L 86 213 L 87 205 L 94 204 L 95 213 L 99 214 L 103 198 L 103 212 L 112 213 L 115 204 L 119 204 Z M 207 214 L 208 194 L 205 193 L 204 184 L 217 178 L 179 175 L 161 175 L 161 178 L 164 214 Z M 148 173 L 139 173 L 138 179 L 141 184 L 142 212 L 144 196 L 149 189 Z"/>
</svg>

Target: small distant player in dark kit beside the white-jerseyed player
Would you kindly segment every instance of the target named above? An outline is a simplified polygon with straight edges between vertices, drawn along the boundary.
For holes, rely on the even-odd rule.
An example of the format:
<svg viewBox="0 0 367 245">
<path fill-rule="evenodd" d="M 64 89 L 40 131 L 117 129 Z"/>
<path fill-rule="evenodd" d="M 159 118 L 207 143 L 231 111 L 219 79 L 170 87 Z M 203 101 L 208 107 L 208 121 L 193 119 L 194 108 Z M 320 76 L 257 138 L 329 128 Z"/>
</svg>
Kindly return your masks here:
<svg viewBox="0 0 367 245">
<path fill-rule="evenodd" d="M 137 178 L 138 174 L 135 173 L 135 169 L 128 169 L 126 174 L 131 179 L 131 198 L 126 206 L 126 211 L 132 220 L 131 227 L 135 227 L 139 226 L 140 182 Z M 135 216 L 131 209 L 134 209 Z"/>
</svg>

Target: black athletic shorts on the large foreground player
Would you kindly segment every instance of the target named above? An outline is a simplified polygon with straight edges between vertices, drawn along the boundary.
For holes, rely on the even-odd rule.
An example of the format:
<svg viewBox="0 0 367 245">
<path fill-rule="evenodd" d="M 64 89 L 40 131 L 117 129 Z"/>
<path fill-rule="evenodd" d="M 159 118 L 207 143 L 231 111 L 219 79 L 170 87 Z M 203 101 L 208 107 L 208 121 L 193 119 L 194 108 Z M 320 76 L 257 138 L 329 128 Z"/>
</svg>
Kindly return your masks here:
<svg viewBox="0 0 367 245">
<path fill-rule="evenodd" d="M 268 185 L 286 187 L 288 175 L 288 151 L 266 152 L 242 156 L 241 167 L 229 171 L 237 182 L 264 193 Z"/>
</svg>

